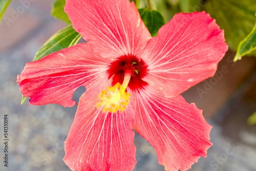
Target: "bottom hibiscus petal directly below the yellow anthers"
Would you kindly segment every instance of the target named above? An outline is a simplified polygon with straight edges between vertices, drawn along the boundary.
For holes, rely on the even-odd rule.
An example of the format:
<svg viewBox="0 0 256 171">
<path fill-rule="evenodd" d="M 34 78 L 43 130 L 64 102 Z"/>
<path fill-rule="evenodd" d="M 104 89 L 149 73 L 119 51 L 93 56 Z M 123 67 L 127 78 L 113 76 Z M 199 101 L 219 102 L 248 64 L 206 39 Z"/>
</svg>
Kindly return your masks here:
<svg viewBox="0 0 256 171">
<path fill-rule="evenodd" d="M 63 160 L 74 171 L 131 171 L 136 164 L 131 104 L 123 113 L 103 113 L 90 92 L 79 100 Z"/>
</svg>

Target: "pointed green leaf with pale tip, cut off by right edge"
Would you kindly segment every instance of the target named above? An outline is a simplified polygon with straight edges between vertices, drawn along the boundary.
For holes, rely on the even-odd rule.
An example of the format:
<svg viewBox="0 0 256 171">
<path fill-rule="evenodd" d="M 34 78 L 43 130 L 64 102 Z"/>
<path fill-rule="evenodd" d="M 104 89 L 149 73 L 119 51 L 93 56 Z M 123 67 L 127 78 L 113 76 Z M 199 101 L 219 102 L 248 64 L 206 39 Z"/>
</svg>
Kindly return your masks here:
<svg viewBox="0 0 256 171">
<path fill-rule="evenodd" d="M 250 34 L 239 43 L 234 62 L 240 60 L 244 55 L 250 54 L 254 50 L 256 50 L 256 23 Z"/>
</svg>

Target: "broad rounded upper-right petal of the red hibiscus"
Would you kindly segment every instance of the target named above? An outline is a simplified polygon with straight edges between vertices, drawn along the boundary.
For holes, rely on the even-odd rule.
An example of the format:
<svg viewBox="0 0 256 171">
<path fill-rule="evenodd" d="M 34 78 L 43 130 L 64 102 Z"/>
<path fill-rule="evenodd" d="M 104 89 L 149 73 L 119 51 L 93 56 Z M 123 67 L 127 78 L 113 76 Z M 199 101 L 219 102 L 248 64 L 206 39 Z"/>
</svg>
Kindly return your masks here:
<svg viewBox="0 0 256 171">
<path fill-rule="evenodd" d="M 143 80 L 166 97 L 175 97 L 214 76 L 228 49 L 224 41 L 223 31 L 209 14 L 176 14 L 142 54 L 148 64 Z"/>
</svg>

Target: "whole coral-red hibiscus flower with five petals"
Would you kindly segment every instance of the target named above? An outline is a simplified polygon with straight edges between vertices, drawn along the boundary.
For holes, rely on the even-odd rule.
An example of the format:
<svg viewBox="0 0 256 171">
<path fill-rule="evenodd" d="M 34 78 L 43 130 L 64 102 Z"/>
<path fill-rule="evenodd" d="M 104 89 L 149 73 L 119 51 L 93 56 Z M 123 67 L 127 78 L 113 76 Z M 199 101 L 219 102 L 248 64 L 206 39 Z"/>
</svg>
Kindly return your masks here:
<svg viewBox="0 0 256 171">
<path fill-rule="evenodd" d="M 74 29 L 89 43 L 27 63 L 17 82 L 30 104 L 73 106 L 86 87 L 65 141 L 72 170 L 132 170 L 134 129 L 166 170 L 206 157 L 211 126 L 180 95 L 215 74 L 227 51 L 205 12 L 176 14 L 151 37 L 128 0 L 67 0 Z"/>
</svg>

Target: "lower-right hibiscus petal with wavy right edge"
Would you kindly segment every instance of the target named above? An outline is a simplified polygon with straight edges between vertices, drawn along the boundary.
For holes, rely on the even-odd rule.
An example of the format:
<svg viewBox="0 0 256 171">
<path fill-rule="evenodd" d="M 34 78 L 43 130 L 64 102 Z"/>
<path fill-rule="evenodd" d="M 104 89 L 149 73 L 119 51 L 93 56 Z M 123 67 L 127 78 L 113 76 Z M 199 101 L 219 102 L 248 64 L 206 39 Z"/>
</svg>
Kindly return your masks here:
<svg viewBox="0 0 256 171">
<path fill-rule="evenodd" d="M 151 143 L 166 170 L 187 170 L 211 146 L 211 126 L 194 103 L 166 98 L 150 86 L 134 91 L 134 130 Z"/>
</svg>

